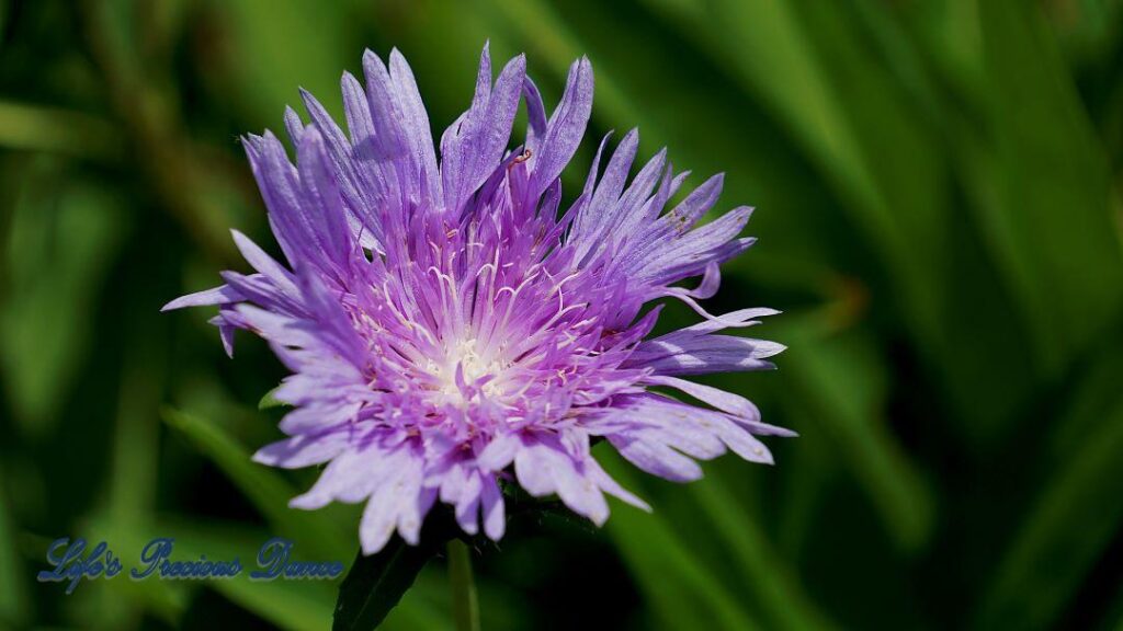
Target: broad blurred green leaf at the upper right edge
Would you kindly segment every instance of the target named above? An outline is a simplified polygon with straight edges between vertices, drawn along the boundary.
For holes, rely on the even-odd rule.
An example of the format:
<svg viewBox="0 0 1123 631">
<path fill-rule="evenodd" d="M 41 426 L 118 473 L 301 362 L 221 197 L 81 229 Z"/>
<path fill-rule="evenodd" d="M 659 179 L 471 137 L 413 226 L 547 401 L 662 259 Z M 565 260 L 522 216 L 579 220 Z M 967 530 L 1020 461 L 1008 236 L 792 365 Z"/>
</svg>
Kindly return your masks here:
<svg viewBox="0 0 1123 631">
<path fill-rule="evenodd" d="M 1123 307 L 1110 170 L 1040 7 L 990 0 L 978 10 L 999 189 L 980 219 L 1038 363 L 1057 376 Z"/>
</svg>

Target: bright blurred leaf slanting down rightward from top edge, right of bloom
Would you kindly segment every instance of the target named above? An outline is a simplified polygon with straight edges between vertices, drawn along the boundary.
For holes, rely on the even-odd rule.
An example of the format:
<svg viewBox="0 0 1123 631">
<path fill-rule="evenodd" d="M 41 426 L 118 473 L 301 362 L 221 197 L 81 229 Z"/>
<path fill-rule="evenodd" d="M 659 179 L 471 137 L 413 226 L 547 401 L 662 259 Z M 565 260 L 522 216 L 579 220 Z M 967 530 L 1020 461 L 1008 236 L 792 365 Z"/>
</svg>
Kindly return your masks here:
<svg viewBox="0 0 1123 631">
<path fill-rule="evenodd" d="M 788 130 L 906 298 L 925 351 L 939 351 L 947 167 L 900 82 L 856 35 L 847 3 L 649 3 Z"/>
</svg>

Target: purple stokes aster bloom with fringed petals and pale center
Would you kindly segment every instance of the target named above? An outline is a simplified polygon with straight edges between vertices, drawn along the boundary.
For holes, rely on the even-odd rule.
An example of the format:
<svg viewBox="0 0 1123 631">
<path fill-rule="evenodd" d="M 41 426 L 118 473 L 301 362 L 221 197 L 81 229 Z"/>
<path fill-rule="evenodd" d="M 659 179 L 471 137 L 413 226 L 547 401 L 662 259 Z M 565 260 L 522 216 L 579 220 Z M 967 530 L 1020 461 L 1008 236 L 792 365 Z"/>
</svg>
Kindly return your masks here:
<svg viewBox="0 0 1123 631">
<path fill-rule="evenodd" d="M 559 175 L 577 149 L 593 102 L 587 60 L 569 70 L 547 119 L 526 61 L 492 83 L 484 49 L 472 107 L 440 139 L 440 161 L 412 72 L 363 58 L 366 89 L 343 77 L 348 134 L 310 94 L 304 125 L 285 125 L 294 166 L 266 131 L 244 139 L 291 269 L 235 231 L 254 274 L 165 307 L 219 305 L 212 320 L 227 353 L 236 329 L 268 340 L 293 374 L 275 397 L 295 406 L 287 439 L 254 458 L 277 467 L 327 464 L 291 505 L 366 502 L 363 550 L 396 530 L 418 541 L 439 499 L 466 532 L 499 539 L 500 482 L 556 494 L 601 524 L 604 494 L 647 509 L 590 455 L 603 437 L 629 461 L 674 481 L 701 477 L 695 459 L 727 448 L 772 463 L 754 435 L 793 436 L 760 422 L 748 400 L 681 377 L 772 368 L 780 345 L 716 335 L 770 309 L 707 314 L 696 299 L 718 290 L 718 264 L 748 248 L 738 235 L 751 209 L 695 227 L 714 204 L 720 175 L 669 211 L 686 173 L 660 152 L 628 182 L 638 135 L 626 135 L 603 172 L 601 143 L 576 201 L 559 212 Z M 509 149 L 524 103 L 527 138 Z M 696 289 L 673 286 L 701 276 Z M 645 339 L 675 298 L 703 321 Z M 649 388 L 677 391 L 690 404 Z"/>
</svg>

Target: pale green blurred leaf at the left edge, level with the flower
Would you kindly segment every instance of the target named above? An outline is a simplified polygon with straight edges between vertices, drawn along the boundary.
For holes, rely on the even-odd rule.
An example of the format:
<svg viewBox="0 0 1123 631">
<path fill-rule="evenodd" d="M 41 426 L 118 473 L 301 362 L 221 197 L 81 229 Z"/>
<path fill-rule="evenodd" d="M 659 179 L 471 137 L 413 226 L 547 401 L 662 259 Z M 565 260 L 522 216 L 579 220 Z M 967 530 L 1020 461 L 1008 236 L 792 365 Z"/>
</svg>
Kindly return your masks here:
<svg viewBox="0 0 1123 631">
<path fill-rule="evenodd" d="M 49 161 L 25 174 L 6 236 L 0 371 L 15 418 L 49 432 L 90 346 L 94 301 L 124 237 L 120 200 Z"/>
</svg>

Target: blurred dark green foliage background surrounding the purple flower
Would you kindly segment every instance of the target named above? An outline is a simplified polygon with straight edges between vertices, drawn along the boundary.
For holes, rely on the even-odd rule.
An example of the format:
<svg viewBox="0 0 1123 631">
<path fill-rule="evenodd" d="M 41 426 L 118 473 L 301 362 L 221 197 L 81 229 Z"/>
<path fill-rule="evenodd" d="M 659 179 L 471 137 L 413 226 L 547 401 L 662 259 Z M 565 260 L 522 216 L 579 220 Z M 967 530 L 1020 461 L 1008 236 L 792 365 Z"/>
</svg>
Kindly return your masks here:
<svg viewBox="0 0 1123 631">
<path fill-rule="evenodd" d="M 237 136 L 296 88 L 337 116 L 401 48 L 437 132 L 478 52 L 548 102 L 596 72 L 591 135 L 728 173 L 758 246 L 709 307 L 785 311 L 780 369 L 713 383 L 802 437 L 692 485 L 599 458 L 656 512 L 544 519 L 475 558 L 487 630 L 1123 629 L 1123 10 L 1111 0 L 0 0 L 0 628 L 326 629 L 335 585 L 35 583 L 56 537 L 134 563 L 350 563 L 353 510 L 247 455 L 283 376 L 167 300 L 267 237 Z M 619 136 L 618 136 L 619 137 Z M 693 314 L 672 308 L 663 328 Z M 387 620 L 450 628 L 442 560 Z"/>
</svg>

